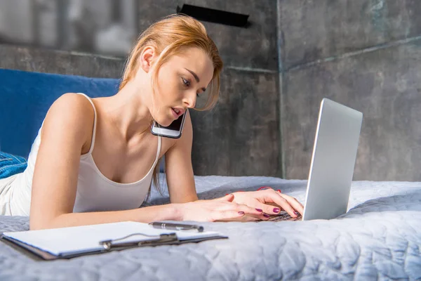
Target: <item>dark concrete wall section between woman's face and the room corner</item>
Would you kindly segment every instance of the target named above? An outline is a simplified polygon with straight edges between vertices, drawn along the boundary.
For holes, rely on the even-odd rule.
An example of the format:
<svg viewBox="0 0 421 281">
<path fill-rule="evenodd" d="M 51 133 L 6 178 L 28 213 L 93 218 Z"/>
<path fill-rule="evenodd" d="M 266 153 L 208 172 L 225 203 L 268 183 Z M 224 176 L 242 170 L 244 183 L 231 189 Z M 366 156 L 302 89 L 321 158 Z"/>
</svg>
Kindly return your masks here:
<svg viewBox="0 0 421 281">
<path fill-rule="evenodd" d="M 218 45 L 225 70 L 217 107 L 192 112 L 195 173 L 280 176 L 276 1 L 143 0 L 140 30 L 182 4 L 250 15 L 248 28 L 203 22 Z"/>
</svg>

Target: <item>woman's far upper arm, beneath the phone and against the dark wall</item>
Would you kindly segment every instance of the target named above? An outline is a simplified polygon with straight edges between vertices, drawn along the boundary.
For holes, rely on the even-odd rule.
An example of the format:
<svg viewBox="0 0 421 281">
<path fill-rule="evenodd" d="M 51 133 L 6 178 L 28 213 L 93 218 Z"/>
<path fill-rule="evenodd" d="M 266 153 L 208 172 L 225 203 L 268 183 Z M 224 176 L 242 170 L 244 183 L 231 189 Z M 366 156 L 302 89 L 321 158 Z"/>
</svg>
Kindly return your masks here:
<svg viewBox="0 0 421 281">
<path fill-rule="evenodd" d="M 166 179 L 171 203 L 197 200 L 192 167 L 193 129 L 187 114 L 182 136 L 166 152 Z"/>
</svg>

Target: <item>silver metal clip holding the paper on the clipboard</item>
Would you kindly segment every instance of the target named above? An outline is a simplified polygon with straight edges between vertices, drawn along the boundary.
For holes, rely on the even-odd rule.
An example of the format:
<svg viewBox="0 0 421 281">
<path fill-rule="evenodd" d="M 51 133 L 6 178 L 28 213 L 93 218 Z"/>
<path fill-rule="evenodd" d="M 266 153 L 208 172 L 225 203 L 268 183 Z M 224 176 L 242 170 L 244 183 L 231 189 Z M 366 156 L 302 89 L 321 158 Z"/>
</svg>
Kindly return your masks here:
<svg viewBox="0 0 421 281">
<path fill-rule="evenodd" d="M 135 236 L 135 235 L 152 237 L 152 239 L 113 244 L 115 242 L 125 240 L 128 237 L 132 237 L 132 236 Z M 166 233 L 166 234 L 161 234 L 161 235 L 147 235 L 145 233 L 133 233 L 131 235 L 127 235 L 127 236 L 121 237 L 119 239 L 111 239 L 111 240 L 100 241 L 100 245 L 102 247 L 104 247 L 105 250 L 109 251 L 111 249 L 121 249 L 121 248 L 126 248 L 126 247 L 154 246 L 154 245 L 162 245 L 162 244 L 173 244 L 173 243 L 176 243 L 176 242 L 179 242 L 179 240 L 178 240 L 178 237 L 175 233 Z"/>
</svg>

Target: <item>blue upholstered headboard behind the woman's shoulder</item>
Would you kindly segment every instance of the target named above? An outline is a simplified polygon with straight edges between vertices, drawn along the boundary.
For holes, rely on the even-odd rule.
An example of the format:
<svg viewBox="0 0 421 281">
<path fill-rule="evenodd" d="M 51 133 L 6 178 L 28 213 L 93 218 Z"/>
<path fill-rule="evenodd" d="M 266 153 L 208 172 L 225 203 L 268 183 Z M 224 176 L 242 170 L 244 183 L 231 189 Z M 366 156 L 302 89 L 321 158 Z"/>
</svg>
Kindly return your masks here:
<svg viewBox="0 0 421 281">
<path fill-rule="evenodd" d="M 48 108 L 64 93 L 112 96 L 119 79 L 0 69 L 0 150 L 27 157 Z"/>
</svg>

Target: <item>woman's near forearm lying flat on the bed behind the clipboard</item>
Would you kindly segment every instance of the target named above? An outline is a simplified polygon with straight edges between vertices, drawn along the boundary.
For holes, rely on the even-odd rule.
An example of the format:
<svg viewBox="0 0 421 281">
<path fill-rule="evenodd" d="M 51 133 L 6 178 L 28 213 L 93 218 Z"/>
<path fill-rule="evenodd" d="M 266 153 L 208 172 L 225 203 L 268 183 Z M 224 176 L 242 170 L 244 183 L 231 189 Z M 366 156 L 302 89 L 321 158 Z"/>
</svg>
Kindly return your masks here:
<svg viewBox="0 0 421 281">
<path fill-rule="evenodd" d="M 87 226 L 99 223 L 115 223 L 119 221 L 138 221 L 149 223 L 151 221 L 181 221 L 180 204 L 165 204 L 126 211 L 97 211 L 88 213 L 61 214 L 44 222 L 33 222 L 31 230 L 46 228 L 65 228 L 69 226 Z"/>
</svg>

